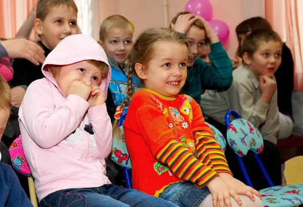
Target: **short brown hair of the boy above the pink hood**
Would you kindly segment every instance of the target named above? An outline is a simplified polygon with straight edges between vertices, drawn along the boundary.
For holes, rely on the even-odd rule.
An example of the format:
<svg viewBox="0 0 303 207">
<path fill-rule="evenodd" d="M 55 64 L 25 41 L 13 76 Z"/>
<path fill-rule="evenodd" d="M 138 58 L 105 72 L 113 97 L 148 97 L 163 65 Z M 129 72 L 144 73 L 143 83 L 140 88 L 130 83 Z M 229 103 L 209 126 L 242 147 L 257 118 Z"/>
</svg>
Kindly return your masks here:
<svg viewBox="0 0 303 207">
<path fill-rule="evenodd" d="M 43 21 L 52 7 L 59 7 L 61 5 L 71 7 L 78 13 L 77 5 L 73 0 L 38 0 L 36 18 Z"/>
</svg>

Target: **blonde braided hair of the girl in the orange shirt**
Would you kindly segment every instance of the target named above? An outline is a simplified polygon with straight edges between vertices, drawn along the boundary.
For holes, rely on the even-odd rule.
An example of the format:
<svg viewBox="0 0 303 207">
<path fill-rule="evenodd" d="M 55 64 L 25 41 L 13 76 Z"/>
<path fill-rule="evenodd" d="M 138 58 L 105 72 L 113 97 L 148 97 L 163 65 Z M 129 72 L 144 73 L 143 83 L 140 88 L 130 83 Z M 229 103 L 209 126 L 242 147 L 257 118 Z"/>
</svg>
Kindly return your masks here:
<svg viewBox="0 0 303 207">
<path fill-rule="evenodd" d="M 153 58 L 155 47 L 154 45 L 159 42 L 173 42 L 178 44 L 184 44 L 188 47 L 186 39 L 179 33 L 172 29 L 166 28 L 150 28 L 143 31 L 135 41 L 131 51 L 128 55 L 129 72 L 127 76 L 127 97 L 120 105 L 121 110 L 125 107 L 129 99 L 133 94 L 132 76 L 140 78 L 136 74 L 135 64 L 140 63 L 147 66 L 149 60 Z M 141 83 L 143 82 L 140 80 Z M 113 123 L 113 137 L 121 137 L 122 131 L 119 128 L 119 120 L 115 120 Z"/>
</svg>

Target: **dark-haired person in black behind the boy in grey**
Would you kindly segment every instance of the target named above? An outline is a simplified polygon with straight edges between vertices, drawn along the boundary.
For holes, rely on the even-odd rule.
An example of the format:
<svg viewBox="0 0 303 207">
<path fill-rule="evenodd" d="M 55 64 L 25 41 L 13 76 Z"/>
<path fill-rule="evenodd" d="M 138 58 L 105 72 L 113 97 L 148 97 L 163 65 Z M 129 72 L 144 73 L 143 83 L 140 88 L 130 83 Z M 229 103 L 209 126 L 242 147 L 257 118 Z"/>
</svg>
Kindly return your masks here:
<svg viewBox="0 0 303 207">
<path fill-rule="evenodd" d="M 270 23 L 262 17 L 252 17 L 244 20 L 236 27 L 236 33 L 238 36 L 238 52 L 234 61 L 238 61 L 239 66 L 242 64 L 242 58 L 239 57 L 241 51 L 241 45 L 243 44 L 247 35 L 259 29 L 270 29 L 272 27 Z M 241 56 L 241 55 L 240 55 Z M 235 65 L 233 65 L 235 66 Z M 278 140 L 287 139 L 291 134 L 293 128 L 302 125 L 299 122 L 293 122 L 292 119 L 292 91 L 294 85 L 294 66 L 293 58 L 290 49 L 283 43 L 281 64 L 275 73 L 278 93 L 278 108 L 279 108 L 279 135 Z M 285 84 L 286 83 L 286 84 Z M 293 118 L 296 118 L 298 113 L 294 114 Z M 301 127 L 301 126 L 299 126 Z"/>
</svg>

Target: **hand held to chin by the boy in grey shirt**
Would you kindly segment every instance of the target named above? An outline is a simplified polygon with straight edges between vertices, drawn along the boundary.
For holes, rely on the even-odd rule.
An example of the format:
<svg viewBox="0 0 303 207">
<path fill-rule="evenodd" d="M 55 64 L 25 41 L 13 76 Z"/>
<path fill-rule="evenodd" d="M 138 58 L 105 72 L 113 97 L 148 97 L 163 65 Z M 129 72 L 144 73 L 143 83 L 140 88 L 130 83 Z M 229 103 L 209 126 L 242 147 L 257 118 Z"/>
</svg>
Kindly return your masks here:
<svg viewBox="0 0 303 207">
<path fill-rule="evenodd" d="M 262 100 L 267 103 L 270 103 L 270 100 L 276 91 L 277 83 L 267 76 L 260 76 L 259 85 L 262 94 Z"/>
</svg>

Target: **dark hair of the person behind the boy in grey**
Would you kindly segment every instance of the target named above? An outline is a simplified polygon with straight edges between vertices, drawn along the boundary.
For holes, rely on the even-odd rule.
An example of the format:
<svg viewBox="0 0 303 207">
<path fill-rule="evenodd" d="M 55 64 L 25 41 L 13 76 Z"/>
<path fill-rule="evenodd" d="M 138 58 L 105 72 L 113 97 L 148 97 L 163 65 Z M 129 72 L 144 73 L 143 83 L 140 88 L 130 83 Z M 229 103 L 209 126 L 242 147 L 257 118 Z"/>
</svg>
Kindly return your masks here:
<svg viewBox="0 0 303 207">
<path fill-rule="evenodd" d="M 236 33 L 239 43 L 237 55 L 240 56 L 241 51 L 241 38 L 239 37 L 239 35 L 246 34 L 247 32 L 255 32 L 259 29 L 272 30 L 272 27 L 270 23 L 262 17 L 252 17 L 238 24 L 238 26 L 236 27 Z"/>
</svg>

